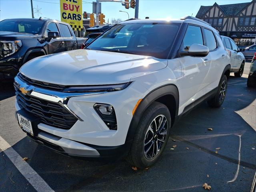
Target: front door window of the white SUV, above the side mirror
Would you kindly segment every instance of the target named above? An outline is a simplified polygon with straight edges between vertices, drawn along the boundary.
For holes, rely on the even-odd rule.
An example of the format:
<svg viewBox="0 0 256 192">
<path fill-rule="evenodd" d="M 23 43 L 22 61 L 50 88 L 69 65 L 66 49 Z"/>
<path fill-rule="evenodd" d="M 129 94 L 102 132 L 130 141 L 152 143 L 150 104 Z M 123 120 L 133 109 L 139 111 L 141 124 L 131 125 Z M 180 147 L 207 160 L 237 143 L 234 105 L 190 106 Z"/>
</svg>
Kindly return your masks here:
<svg viewBox="0 0 256 192">
<path fill-rule="evenodd" d="M 192 44 L 204 45 L 202 31 L 200 27 L 188 26 L 185 37 L 183 39 L 182 50 L 188 51 Z"/>
</svg>

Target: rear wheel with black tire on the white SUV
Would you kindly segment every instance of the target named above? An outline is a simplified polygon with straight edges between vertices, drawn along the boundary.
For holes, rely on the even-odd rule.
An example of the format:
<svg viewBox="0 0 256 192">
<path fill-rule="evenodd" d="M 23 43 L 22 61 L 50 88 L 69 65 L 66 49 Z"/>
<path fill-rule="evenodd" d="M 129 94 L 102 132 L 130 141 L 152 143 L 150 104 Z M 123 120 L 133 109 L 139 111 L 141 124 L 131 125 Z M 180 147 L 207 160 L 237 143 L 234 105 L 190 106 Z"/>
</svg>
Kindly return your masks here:
<svg viewBox="0 0 256 192">
<path fill-rule="evenodd" d="M 218 92 L 215 94 L 215 96 L 208 100 L 208 105 L 212 108 L 218 108 L 222 105 L 224 102 L 226 91 L 227 91 L 227 84 L 228 84 L 228 78 L 226 75 L 223 75 L 220 79 Z"/>
</svg>

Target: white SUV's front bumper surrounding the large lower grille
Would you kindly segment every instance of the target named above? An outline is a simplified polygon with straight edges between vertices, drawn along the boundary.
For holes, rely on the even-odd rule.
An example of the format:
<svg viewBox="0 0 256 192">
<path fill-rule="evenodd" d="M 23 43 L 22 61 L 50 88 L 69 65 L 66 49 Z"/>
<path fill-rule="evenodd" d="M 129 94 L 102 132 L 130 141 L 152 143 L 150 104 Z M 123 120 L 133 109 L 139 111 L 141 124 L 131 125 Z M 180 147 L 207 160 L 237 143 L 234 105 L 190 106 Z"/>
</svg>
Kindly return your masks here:
<svg viewBox="0 0 256 192">
<path fill-rule="evenodd" d="M 18 77 L 15 81 L 22 86 L 29 86 Z M 124 90 L 101 93 L 70 94 L 45 90 L 35 87 L 31 96 L 63 102 L 68 100 L 66 107 L 79 120 L 68 130 L 49 126 L 44 123 L 37 125 L 38 136 L 32 137 L 50 148 L 57 146 L 57 152 L 69 156 L 107 157 L 125 155 L 130 146 L 126 143 L 126 135 L 132 120 L 132 110 L 140 98 L 147 94 L 146 88 L 133 82 Z M 116 112 L 117 130 L 110 130 L 94 109 L 94 104 L 104 103 L 114 107 Z M 16 110 L 21 107 L 16 101 Z M 118 155 L 117 155 L 118 154 Z"/>
</svg>

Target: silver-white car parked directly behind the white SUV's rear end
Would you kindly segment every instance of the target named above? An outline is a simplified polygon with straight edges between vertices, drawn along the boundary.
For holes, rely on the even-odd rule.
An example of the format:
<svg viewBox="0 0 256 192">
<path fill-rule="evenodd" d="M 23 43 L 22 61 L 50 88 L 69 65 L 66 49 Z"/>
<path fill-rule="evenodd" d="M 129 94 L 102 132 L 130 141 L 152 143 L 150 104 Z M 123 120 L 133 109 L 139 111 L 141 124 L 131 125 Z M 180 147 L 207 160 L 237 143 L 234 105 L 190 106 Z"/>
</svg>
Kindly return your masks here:
<svg viewBox="0 0 256 192">
<path fill-rule="evenodd" d="M 241 77 L 244 72 L 245 58 L 242 52 L 240 52 L 236 43 L 229 37 L 220 36 L 224 47 L 230 54 L 231 71 L 234 72 L 236 77 Z"/>
</svg>

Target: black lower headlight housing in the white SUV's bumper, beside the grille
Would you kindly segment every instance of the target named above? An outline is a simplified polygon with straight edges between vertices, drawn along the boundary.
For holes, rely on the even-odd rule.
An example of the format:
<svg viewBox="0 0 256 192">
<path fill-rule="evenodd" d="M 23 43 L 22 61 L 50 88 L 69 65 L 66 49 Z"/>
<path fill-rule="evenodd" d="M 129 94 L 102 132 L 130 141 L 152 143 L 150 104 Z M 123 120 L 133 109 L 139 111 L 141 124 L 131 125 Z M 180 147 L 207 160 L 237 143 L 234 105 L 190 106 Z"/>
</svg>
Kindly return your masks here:
<svg viewBox="0 0 256 192">
<path fill-rule="evenodd" d="M 93 107 L 110 130 L 117 130 L 116 113 L 113 106 L 96 103 Z"/>
</svg>

